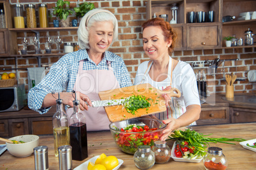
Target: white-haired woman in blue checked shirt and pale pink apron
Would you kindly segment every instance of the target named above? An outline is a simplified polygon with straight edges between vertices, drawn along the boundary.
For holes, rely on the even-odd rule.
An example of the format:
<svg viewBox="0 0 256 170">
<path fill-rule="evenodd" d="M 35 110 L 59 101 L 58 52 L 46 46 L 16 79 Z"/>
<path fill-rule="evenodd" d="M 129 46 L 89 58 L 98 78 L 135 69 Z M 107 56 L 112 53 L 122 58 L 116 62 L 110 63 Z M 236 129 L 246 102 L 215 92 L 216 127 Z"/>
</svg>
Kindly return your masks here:
<svg viewBox="0 0 256 170">
<path fill-rule="evenodd" d="M 28 105 L 40 114 L 56 104 L 52 91 L 60 93 L 63 103 L 73 106 L 74 89 L 80 108 L 87 118 L 87 130 L 109 129 L 103 107 L 94 108 L 92 100 L 99 100 L 99 91 L 131 86 L 131 78 L 120 56 L 106 51 L 118 37 L 117 18 L 108 10 L 91 10 L 83 16 L 78 28 L 80 50 L 62 56 L 54 63 L 46 77 L 29 91 Z M 71 115 L 73 108 L 68 108 Z"/>
</svg>

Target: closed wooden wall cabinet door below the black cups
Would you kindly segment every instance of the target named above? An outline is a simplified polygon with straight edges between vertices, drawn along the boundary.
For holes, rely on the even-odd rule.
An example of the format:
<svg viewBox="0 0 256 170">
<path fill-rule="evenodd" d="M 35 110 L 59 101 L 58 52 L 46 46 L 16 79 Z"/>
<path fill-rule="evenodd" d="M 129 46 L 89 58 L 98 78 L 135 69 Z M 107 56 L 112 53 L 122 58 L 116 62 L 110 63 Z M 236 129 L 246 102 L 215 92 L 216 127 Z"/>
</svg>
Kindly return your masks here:
<svg viewBox="0 0 256 170">
<path fill-rule="evenodd" d="M 188 23 L 187 49 L 220 48 L 220 28 L 218 23 Z"/>
</svg>

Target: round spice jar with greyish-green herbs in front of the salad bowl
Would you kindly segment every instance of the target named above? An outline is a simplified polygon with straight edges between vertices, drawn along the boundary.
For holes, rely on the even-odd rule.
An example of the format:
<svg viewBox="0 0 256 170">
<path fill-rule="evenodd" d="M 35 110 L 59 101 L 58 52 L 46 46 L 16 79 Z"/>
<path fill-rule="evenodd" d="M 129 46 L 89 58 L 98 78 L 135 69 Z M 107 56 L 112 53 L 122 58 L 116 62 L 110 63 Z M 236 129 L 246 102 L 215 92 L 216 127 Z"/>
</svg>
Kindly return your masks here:
<svg viewBox="0 0 256 170">
<path fill-rule="evenodd" d="M 155 164 L 155 154 L 148 145 L 140 145 L 133 156 L 134 163 L 139 169 L 150 169 Z"/>
</svg>

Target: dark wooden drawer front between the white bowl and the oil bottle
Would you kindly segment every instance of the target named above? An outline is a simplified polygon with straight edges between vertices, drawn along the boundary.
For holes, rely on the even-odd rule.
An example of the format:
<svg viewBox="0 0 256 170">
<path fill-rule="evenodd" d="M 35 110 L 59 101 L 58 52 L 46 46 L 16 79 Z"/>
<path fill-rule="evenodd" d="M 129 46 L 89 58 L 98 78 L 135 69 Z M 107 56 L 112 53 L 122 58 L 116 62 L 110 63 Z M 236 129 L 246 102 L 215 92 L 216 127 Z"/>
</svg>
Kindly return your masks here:
<svg viewBox="0 0 256 170">
<path fill-rule="evenodd" d="M 31 133 L 31 134 L 53 134 L 52 117 L 29 118 L 29 133 Z"/>
</svg>

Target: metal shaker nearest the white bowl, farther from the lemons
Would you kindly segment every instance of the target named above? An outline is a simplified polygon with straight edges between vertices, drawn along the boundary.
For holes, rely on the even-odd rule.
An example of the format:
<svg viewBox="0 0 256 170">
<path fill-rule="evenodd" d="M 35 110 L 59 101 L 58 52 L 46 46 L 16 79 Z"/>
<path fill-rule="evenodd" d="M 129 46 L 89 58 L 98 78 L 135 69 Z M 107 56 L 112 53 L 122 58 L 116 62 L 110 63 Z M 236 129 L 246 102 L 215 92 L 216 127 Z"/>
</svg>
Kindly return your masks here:
<svg viewBox="0 0 256 170">
<path fill-rule="evenodd" d="M 39 146 L 34 148 L 34 167 L 36 170 L 48 170 L 48 147 Z"/>
</svg>

